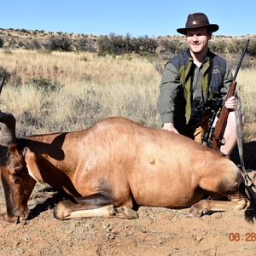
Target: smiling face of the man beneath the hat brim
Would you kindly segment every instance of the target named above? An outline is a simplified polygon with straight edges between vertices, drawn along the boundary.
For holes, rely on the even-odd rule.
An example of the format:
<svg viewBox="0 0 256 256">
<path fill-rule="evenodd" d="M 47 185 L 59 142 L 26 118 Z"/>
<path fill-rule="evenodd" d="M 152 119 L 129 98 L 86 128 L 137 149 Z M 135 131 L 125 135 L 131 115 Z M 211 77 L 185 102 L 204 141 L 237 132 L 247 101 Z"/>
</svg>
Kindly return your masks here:
<svg viewBox="0 0 256 256">
<path fill-rule="evenodd" d="M 188 29 L 187 43 L 190 50 L 195 53 L 201 53 L 208 47 L 208 42 L 212 38 L 212 33 L 207 31 L 206 27 Z"/>
</svg>

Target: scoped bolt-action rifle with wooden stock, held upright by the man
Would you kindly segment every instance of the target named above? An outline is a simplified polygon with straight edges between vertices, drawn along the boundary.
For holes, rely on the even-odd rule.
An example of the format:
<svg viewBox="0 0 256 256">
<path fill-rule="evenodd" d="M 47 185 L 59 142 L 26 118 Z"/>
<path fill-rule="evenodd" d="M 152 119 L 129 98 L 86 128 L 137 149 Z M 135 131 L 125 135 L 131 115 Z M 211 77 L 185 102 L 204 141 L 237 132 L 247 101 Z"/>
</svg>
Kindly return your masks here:
<svg viewBox="0 0 256 256">
<path fill-rule="evenodd" d="M 238 66 L 236 67 L 236 73 L 234 74 L 234 78 L 230 85 L 230 89 L 227 92 L 226 96 L 224 97 L 224 101 L 222 102 L 222 104 L 220 102 L 219 105 L 221 106 L 218 108 L 217 111 L 214 111 L 211 119 L 209 119 L 208 129 L 203 138 L 204 145 L 207 145 L 208 147 L 213 148 L 214 150 L 217 150 L 217 151 L 219 151 L 220 146 L 223 144 L 224 130 L 227 125 L 228 115 L 230 113 L 230 110 L 226 108 L 224 104 L 226 100 L 230 98 L 230 96 L 234 96 L 236 94 L 236 84 L 237 84 L 236 76 L 241 67 L 241 62 L 247 51 L 249 42 L 250 42 L 250 39 L 247 39 L 245 48 L 243 49 L 243 52 L 241 54 L 240 61 L 238 63 Z"/>
</svg>

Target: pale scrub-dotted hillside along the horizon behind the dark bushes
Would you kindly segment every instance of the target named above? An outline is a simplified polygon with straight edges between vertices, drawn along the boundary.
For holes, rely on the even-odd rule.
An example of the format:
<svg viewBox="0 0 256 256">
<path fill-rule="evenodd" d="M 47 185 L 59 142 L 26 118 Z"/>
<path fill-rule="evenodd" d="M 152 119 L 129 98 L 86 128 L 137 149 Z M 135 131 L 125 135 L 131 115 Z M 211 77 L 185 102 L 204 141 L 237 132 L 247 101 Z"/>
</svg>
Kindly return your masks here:
<svg viewBox="0 0 256 256">
<path fill-rule="evenodd" d="M 114 36 L 114 35 L 112 35 Z M 122 36 L 116 36 L 121 37 Z M 4 49 L 48 49 L 49 44 L 52 44 L 52 40 L 59 38 L 63 41 L 63 47 L 68 44 L 69 50 L 87 50 L 96 51 L 98 49 L 98 40 L 102 36 L 86 35 L 86 34 L 75 34 L 66 32 L 45 32 L 39 30 L 26 30 L 26 29 L 3 29 L 0 28 L 0 39 Z M 123 37 L 126 38 L 126 37 Z M 256 35 L 247 35 L 242 37 L 229 37 L 229 36 L 216 36 L 212 38 L 212 44 L 218 44 L 221 48 L 226 45 L 234 44 L 234 41 L 244 40 L 251 38 L 253 42 L 256 41 Z M 183 37 L 180 36 L 165 36 L 153 38 L 159 46 L 165 48 L 166 42 L 172 42 L 183 44 Z M 173 43 L 174 42 L 174 43 Z M 66 45 L 67 46 L 67 45 Z M 173 46 L 173 45 L 172 45 Z"/>
</svg>

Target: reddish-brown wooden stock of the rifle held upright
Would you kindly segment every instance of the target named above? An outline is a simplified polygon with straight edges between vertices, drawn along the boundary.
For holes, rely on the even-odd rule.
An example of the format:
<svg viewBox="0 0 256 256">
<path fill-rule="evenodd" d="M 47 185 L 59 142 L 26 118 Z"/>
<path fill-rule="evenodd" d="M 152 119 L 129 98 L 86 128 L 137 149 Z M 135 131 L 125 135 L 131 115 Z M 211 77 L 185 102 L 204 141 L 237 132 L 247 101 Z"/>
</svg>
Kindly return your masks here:
<svg viewBox="0 0 256 256">
<path fill-rule="evenodd" d="M 236 81 L 233 81 L 232 84 L 230 85 L 230 90 L 228 91 L 225 99 L 224 99 L 224 103 L 226 102 L 227 99 L 230 98 L 230 96 L 234 96 L 235 95 L 235 91 L 236 91 Z M 222 144 L 222 141 L 224 139 L 223 135 L 224 135 L 224 130 L 227 124 L 227 119 L 228 119 L 228 115 L 230 113 L 230 110 L 228 108 L 225 107 L 223 103 L 223 106 L 220 110 L 220 113 L 218 115 L 218 123 L 215 127 L 215 131 L 213 133 L 212 136 L 212 148 L 214 150 L 219 151 L 219 148 Z"/>
</svg>

